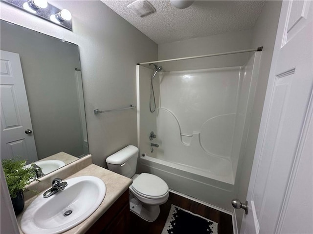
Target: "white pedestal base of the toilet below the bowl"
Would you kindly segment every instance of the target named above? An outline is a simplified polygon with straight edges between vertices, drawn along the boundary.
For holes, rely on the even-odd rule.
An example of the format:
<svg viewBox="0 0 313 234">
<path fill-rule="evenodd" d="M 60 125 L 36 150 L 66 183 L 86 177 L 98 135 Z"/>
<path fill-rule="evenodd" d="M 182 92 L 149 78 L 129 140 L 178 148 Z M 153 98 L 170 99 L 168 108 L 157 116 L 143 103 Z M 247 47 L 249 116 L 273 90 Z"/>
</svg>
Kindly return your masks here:
<svg viewBox="0 0 313 234">
<path fill-rule="evenodd" d="M 139 201 L 133 194 L 130 193 L 130 210 L 141 217 L 142 219 L 153 222 L 160 214 L 159 205 L 146 205 Z"/>
</svg>

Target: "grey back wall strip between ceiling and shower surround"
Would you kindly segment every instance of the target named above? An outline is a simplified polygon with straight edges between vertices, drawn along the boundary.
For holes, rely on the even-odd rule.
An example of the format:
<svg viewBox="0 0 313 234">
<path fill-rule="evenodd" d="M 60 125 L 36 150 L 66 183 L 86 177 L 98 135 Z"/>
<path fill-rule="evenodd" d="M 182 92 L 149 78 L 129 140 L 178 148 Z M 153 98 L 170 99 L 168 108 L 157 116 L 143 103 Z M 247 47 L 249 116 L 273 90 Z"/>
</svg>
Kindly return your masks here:
<svg viewBox="0 0 313 234">
<path fill-rule="evenodd" d="M 203 38 L 194 38 L 158 45 L 158 59 L 175 59 L 197 55 L 222 53 L 250 49 L 251 30 L 228 32 Z M 255 45 L 259 47 L 261 45 Z M 253 48 L 254 48 L 253 47 Z M 251 47 L 252 48 L 252 47 Z M 241 66 L 246 63 L 248 53 L 218 57 L 162 62 L 163 71 L 194 70 L 215 67 Z"/>
</svg>

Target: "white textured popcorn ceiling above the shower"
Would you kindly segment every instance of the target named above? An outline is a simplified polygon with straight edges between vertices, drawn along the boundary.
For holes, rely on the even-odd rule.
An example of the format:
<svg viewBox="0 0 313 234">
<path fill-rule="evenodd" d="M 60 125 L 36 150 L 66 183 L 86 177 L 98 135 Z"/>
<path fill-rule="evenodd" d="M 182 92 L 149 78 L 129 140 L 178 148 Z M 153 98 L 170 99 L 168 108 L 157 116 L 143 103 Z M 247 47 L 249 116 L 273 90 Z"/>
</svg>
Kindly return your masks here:
<svg viewBox="0 0 313 234">
<path fill-rule="evenodd" d="M 265 1 L 200 1 L 177 9 L 169 0 L 150 0 L 156 12 L 140 18 L 127 5 L 134 0 L 102 0 L 157 44 L 253 27 Z"/>
</svg>

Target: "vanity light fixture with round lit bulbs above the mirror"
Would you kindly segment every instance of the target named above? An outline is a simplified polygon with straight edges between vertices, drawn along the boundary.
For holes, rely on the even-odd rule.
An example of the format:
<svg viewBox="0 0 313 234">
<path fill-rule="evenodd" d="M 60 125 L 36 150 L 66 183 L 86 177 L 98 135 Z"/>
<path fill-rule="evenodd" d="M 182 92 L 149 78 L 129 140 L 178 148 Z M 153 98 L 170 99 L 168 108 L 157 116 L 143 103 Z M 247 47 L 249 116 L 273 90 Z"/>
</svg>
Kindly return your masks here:
<svg viewBox="0 0 313 234">
<path fill-rule="evenodd" d="M 72 15 L 67 9 L 59 9 L 46 0 L 1 0 L 72 31 Z"/>
</svg>

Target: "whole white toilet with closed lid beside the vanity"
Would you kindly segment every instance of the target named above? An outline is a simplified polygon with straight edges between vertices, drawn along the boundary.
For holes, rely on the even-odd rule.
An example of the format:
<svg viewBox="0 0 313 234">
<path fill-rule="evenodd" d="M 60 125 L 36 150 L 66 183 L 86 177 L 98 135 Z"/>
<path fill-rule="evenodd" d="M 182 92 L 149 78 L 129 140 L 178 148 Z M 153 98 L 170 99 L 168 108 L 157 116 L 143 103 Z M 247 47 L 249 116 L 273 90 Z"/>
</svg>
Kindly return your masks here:
<svg viewBox="0 0 313 234">
<path fill-rule="evenodd" d="M 107 157 L 108 169 L 123 176 L 132 178 L 130 190 L 130 210 L 146 221 L 153 222 L 160 214 L 159 205 L 168 200 L 169 188 L 158 176 L 142 173 L 135 174 L 138 148 L 129 145 Z"/>
</svg>

